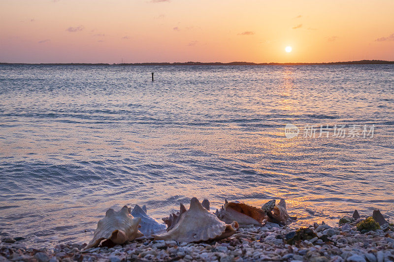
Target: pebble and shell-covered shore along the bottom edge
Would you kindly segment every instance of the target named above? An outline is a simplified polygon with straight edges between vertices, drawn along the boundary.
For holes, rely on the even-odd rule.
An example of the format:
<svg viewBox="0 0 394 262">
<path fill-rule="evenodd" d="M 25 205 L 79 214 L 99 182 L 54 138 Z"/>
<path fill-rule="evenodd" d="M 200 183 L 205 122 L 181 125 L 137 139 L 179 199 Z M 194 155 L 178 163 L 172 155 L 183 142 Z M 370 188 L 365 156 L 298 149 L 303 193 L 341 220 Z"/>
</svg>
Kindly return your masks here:
<svg viewBox="0 0 394 262">
<path fill-rule="evenodd" d="M 136 239 L 124 245 L 81 251 L 86 244 L 60 244 L 53 250 L 26 247 L 19 239 L 3 238 L 2 261 L 394 261 L 394 232 L 385 228 L 361 233 L 354 223 L 340 227 L 314 224 L 291 229 L 267 223 L 240 228 L 229 238 L 201 243 Z"/>
</svg>

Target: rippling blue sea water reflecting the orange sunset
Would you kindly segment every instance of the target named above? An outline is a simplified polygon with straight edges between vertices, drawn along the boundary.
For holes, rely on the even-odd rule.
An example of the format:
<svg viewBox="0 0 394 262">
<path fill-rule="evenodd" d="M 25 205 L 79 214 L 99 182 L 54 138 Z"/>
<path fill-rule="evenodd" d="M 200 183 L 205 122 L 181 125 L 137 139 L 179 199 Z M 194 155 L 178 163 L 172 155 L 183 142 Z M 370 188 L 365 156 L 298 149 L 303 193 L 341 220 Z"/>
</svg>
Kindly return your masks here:
<svg viewBox="0 0 394 262">
<path fill-rule="evenodd" d="M 393 116 L 394 65 L 2 65 L 0 234 L 87 242 L 109 207 L 160 219 L 194 196 L 393 220 Z"/>
</svg>

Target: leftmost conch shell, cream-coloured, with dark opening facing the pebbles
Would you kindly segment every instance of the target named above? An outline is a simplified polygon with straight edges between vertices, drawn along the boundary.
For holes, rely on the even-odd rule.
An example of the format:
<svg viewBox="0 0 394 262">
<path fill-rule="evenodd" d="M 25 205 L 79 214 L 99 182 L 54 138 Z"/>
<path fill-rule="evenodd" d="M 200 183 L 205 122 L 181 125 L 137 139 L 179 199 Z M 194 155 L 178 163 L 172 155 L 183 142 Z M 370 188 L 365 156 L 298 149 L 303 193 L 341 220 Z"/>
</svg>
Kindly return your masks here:
<svg viewBox="0 0 394 262">
<path fill-rule="evenodd" d="M 133 218 L 130 212 L 131 208 L 127 205 L 118 212 L 112 208 L 108 209 L 105 217 L 97 223 L 93 239 L 85 247 L 85 250 L 99 246 L 104 239 L 109 239 L 115 244 L 123 244 L 126 241 L 142 236 L 143 234 L 138 231 L 138 224 L 141 218 Z"/>
</svg>

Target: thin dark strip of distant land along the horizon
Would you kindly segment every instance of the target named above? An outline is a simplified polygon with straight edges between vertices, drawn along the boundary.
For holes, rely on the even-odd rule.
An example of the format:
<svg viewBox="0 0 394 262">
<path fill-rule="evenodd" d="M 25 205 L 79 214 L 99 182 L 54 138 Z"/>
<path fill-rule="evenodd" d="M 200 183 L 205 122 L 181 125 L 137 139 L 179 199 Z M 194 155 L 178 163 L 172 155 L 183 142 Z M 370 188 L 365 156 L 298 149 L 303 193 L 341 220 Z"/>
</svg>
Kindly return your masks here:
<svg viewBox="0 0 394 262">
<path fill-rule="evenodd" d="M 327 63 L 253 63 L 253 62 L 174 62 L 174 63 L 2 63 L 0 65 L 342 65 L 342 64 L 394 64 L 394 61 L 385 60 L 360 60 L 360 61 L 346 61 L 346 62 L 327 62 Z"/>
</svg>

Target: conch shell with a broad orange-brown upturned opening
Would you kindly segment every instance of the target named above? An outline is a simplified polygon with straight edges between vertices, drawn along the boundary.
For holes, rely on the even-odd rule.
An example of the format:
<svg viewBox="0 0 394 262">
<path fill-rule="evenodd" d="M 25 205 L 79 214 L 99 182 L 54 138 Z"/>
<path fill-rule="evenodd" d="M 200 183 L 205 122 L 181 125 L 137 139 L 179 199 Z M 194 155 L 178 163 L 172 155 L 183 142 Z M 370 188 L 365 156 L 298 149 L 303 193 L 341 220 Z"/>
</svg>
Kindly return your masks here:
<svg viewBox="0 0 394 262">
<path fill-rule="evenodd" d="M 244 203 L 229 203 L 227 200 L 220 210 L 216 209 L 215 215 L 225 223 L 236 221 L 240 225 L 261 226 L 263 220 L 267 219 L 262 209 Z"/>
</svg>

